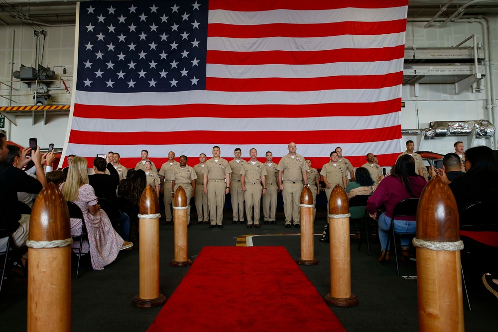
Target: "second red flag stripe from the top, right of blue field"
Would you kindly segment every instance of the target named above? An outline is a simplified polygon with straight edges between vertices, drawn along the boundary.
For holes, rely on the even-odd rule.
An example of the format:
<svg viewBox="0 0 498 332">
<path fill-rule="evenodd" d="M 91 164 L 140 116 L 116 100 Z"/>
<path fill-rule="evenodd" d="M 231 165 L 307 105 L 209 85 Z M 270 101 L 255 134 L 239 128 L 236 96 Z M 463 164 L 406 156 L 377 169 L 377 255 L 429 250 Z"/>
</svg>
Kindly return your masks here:
<svg viewBox="0 0 498 332">
<path fill-rule="evenodd" d="M 261 25 L 209 24 L 208 37 L 311 38 L 340 35 L 377 35 L 404 32 L 406 19 L 390 22 L 334 22 L 317 24 L 273 23 Z"/>
</svg>

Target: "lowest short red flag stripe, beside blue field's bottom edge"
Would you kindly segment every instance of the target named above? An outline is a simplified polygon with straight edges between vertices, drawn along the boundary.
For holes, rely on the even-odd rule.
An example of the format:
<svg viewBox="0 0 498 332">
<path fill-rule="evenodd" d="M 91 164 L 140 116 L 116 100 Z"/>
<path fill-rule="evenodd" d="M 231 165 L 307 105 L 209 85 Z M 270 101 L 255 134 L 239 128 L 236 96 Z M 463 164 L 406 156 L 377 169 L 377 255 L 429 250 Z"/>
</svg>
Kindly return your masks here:
<svg viewBox="0 0 498 332">
<path fill-rule="evenodd" d="M 206 90 L 228 92 L 321 91 L 338 89 L 380 89 L 400 85 L 403 72 L 385 75 L 330 76 L 314 78 L 226 79 L 207 77 Z"/>
</svg>

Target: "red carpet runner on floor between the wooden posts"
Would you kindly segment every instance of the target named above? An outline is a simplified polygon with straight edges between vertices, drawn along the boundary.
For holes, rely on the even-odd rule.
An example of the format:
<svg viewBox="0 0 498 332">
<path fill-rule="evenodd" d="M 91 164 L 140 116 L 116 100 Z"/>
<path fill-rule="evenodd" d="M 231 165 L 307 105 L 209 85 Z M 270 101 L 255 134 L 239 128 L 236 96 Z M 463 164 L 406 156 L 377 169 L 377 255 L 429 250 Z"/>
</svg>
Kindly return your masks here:
<svg viewBox="0 0 498 332">
<path fill-rule="evenodd" d="M 154 331 L 346 331 L 284 247 L 204 247 Z"/>
</svg>

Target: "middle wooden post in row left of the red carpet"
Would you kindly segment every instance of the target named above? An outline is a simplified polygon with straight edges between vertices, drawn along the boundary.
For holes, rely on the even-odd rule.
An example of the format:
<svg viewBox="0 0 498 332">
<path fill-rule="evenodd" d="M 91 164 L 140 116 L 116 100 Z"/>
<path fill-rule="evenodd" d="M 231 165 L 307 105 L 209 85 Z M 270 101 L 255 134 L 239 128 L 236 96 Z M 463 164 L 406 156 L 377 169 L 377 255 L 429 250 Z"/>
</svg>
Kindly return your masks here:
<svg viewBox="0 0 498 332">
<path fill-rule="evenodd" d="M 140 198 L 139 227 L 139 294 L 133 298 L 133 306 L 151 308 L 163 305 L 166 297 L 159 293 L 159 201 L 152 186 L 148 185 Z"/>
</svg>

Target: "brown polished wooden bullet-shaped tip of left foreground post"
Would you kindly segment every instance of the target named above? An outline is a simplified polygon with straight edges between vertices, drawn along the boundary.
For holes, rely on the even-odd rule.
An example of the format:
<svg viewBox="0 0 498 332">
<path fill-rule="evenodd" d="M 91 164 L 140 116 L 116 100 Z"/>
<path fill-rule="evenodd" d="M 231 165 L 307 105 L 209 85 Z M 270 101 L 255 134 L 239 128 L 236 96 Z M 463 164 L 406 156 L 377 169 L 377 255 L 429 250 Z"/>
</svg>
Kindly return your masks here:
<svg viewBox="0 0 498 332">
<path fill-rule="evenodd" d="M 69 237 L 71 226 L 66 200 L 59 188 L 49 183 L 40 191 L 31 209 L 29 239 L 53 241 Z"/>
</svg>

